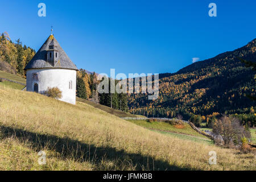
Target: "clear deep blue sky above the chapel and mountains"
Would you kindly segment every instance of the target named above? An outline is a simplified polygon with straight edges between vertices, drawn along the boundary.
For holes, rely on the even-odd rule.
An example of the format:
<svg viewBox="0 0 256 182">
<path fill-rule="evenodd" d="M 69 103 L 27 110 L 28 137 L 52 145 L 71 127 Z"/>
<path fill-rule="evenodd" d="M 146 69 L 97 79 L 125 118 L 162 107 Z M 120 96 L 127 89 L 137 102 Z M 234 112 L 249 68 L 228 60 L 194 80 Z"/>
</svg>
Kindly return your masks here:
<svg viewBox="0 0 256 182">
<path fill-rule="evenodd" d="M 46 4 L 46 17 L 38 4 Z M 217 5 L 209 17 L 208 5 Z M 0 32 L 36 51 L 53 34 L 78 68 L 176 72 L 256 38 L 256 1 L 1 1 Z"/>
</svg>

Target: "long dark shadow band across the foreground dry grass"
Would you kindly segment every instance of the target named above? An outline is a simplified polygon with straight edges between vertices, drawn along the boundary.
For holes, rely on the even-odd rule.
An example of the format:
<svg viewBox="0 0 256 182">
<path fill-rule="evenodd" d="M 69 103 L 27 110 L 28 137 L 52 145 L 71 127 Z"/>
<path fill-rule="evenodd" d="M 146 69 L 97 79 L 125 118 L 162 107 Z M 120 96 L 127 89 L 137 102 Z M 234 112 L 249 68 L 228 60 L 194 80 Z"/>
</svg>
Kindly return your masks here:
<svg viewBox="0 0 256 182">
<path fill-rule="evenodd" d="M 170 165 L 163 160 L 155 160 L 151 156 L 129 154 L 111 147 L 96 147 L 78 140 L 55 135 L 32 133 L 15 127 L 0 126 L 1 138 L 15 137 L 21 142 L 29 142 L 35 151 L 55 151 L 61 159 L 73 159 L 77 162 L 89 161 L 96 170 L 191 170 Z M 109 166 L 104 162 L 111 162 Z"/>
</svg>

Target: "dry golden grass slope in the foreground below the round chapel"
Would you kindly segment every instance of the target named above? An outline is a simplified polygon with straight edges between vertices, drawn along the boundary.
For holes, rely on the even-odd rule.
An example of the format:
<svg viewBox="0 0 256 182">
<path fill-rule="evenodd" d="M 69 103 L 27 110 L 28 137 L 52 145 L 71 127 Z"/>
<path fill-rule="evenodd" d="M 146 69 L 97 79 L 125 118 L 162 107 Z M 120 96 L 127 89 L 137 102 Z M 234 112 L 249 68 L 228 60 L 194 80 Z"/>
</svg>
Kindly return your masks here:
<svg viewBox="0 0 256 182">
<path fill-rule="evenodd" d="M 0 86 L 0 169 L 255 170 L 254 154 L 156 133 L 83 102 Z M 46 152 L 46 165 L 38 152 Z M 208 164 L 216 151 L 217 165 Z"/>
</svg>

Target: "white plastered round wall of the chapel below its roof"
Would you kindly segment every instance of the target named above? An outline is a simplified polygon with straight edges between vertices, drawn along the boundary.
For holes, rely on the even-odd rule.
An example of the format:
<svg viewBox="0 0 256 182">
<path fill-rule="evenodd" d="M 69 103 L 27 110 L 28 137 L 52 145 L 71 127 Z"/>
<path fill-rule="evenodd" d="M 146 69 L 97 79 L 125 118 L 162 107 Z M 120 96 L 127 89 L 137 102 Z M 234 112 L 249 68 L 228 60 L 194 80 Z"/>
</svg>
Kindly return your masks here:
<svg viewBox="0 0 256 182">
<path fill-rule="evenodd" d="M 38 81 L 32 80 L 32 74 L 38 73 Z M 69 81 L 72 80 L 72 89 L 69 89 Z M 62 91 L 61 101 L 76 104 L 76 71 L 73 69 L 28 69 L 27 91 L 34 92 L 34 84 L 38 84 L 38 92 L 43 94 L 47 87 L 59 88 Z"/>
</svg>

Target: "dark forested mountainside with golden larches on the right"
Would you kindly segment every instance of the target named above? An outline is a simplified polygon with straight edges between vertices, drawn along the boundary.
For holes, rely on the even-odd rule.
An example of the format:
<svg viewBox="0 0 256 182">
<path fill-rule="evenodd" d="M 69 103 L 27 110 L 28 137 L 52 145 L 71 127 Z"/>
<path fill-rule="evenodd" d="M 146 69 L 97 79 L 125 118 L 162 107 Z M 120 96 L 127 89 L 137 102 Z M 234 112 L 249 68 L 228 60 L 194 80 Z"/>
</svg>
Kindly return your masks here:
<svg viewBox="0 0 256 182">
<path fill-rule="evenodd" d="M 210 123 L 220 114 L 236 114 L 244 122 L 255 124 L 255 71 L 245 67 L 238 57 L 256 61 L 256 39 L 234 51 L 199 61 L 176 73 L 159 75 L 159 97 L 148 100 L 146 94 L 131 94 L 130 112 L 154 117 L 185 119 L 200 117 Z"/>
</svg>

